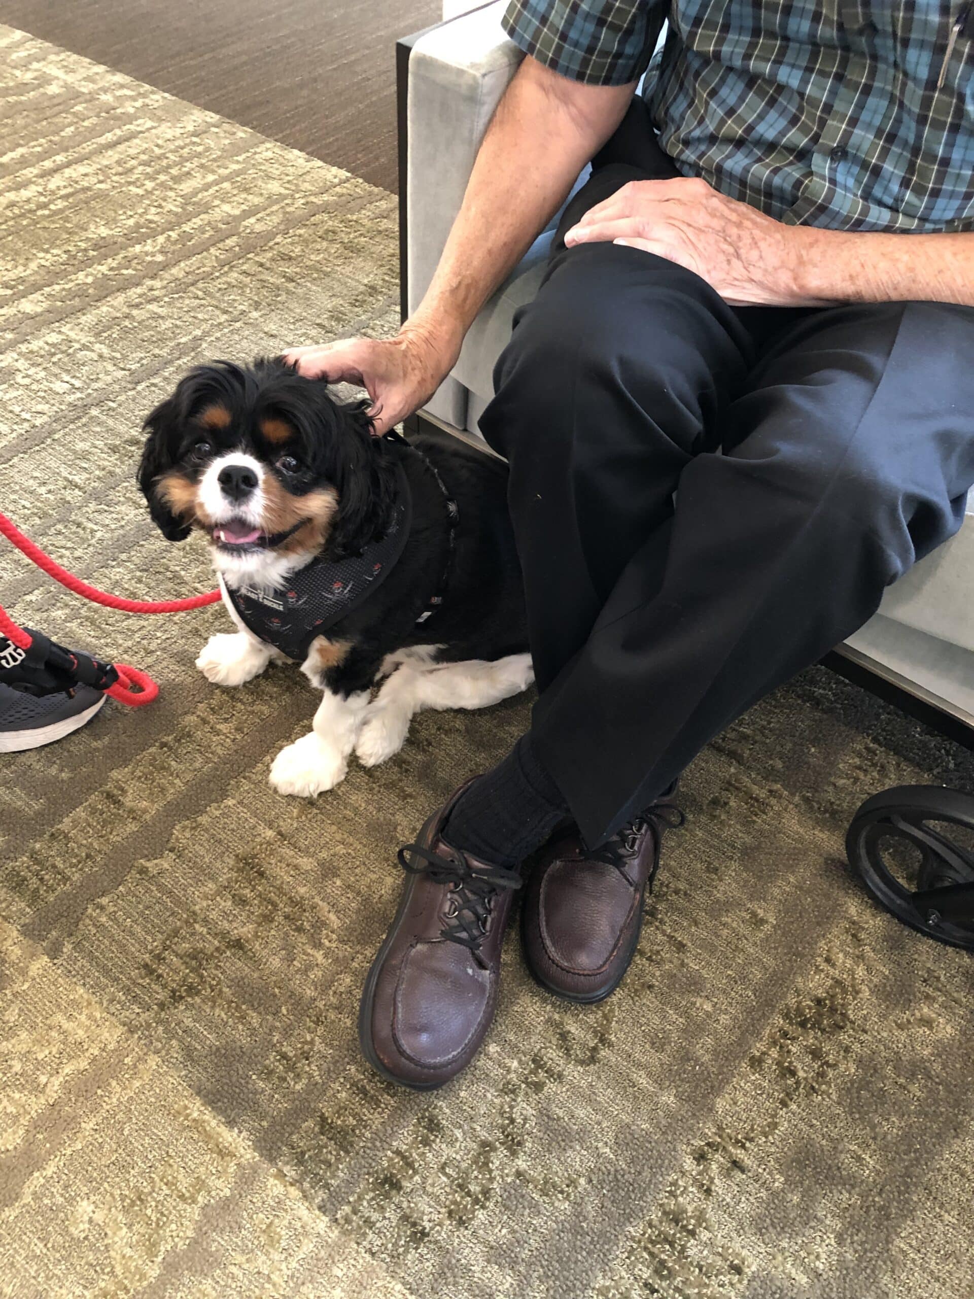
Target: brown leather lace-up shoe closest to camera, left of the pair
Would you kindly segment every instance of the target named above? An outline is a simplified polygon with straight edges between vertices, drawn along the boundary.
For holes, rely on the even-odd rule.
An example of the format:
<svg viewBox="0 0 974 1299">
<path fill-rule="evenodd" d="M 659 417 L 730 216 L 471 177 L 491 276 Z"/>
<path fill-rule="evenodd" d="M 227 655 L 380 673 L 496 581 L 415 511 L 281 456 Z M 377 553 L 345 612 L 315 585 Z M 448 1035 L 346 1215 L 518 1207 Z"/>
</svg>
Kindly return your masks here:
<svg viewBox="0 0 974 1299">
<path fill-rule="evenodd" d="M 470 782 L 468 782 L 470 783 Z M 497 1004 L 514 870 L 452 848 L 442 835 L 461 786 L 399 851 L 399 911 L 373 961 L 358 1040 L 383 1078 L 429 1090 L 473 1060 Z"/>
</svg>

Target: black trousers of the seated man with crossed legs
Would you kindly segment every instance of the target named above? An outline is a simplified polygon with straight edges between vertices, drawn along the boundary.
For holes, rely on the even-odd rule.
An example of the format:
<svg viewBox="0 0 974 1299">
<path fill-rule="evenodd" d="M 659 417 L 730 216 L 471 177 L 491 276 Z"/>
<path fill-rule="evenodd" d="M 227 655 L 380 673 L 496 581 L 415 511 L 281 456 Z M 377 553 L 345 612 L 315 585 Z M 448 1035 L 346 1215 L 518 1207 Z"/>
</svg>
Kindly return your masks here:
<svg viewBox="0 0 974 1299">
<path fill-rule="evenodd" d="M 632 127 L 562 231 L 675 174 Z M 590 844 L 957 531 L 971 349 L 971 308 L 734 309 L 661 257 L 556 240 L 481 427 L 510 465 L 532 740 Z"/>
</svg>

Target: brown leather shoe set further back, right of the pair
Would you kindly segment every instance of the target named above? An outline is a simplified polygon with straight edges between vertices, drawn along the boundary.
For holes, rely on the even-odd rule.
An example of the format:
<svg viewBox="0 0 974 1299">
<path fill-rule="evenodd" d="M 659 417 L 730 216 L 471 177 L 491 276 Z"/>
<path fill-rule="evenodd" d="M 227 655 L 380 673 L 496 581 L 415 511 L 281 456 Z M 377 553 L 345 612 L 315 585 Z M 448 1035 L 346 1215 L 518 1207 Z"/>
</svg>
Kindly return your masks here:
<svg viewBox="0 0 974 1299">
<path fill-rule="evenodd" d="M 586 848 L 574 826 L 542 848 L 521 912 L 522 943 L 529 969 L 549 991 L 601 1002 L 621 983 L 639 942 L 662 831 L 683 824 L 670 792 L 601 848 Z"/>
</svg>

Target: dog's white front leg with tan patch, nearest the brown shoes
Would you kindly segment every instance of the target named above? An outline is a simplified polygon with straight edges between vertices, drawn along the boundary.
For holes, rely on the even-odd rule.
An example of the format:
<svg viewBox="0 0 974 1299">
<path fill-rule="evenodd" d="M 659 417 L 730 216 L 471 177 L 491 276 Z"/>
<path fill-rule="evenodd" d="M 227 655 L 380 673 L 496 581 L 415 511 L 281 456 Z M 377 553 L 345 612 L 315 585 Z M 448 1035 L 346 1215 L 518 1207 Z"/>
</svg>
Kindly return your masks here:
<svg viewBox="0 0 974 1299">
<path fill-rule="evenodd" d="M 322 687 L 321 704 L 312 731 L 274 759 L 270 783 L 275 790 L 308 798 L 344 779 L 378 668 L 377 659 L 353 646 L 318 637 L 301 672 Z"/>
</svg>

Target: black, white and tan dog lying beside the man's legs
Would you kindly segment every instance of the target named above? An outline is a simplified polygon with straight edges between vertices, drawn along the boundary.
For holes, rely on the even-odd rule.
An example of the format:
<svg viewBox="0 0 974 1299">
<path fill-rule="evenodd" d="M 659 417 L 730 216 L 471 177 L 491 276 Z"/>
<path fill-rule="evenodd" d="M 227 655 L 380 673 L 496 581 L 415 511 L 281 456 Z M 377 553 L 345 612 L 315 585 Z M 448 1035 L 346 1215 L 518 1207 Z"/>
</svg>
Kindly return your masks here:
<svg viewBox="0 0 974 1299">
<path fill-rule="evenodd" d="M 162 535 L 208 538 L 234 633 L 196 666 L 242 686 L 296 660 L 322 691 L 270 769 L 334 788 L 399 752 L 422 708 L 484 708 L 534 679 L 506 466 L 458 439 L 377 438 L 279 359 L 200 365 L 144 425 L 138 483 Z M 373 687 L 379 686 L 373 698 Z"/>
</svg>

